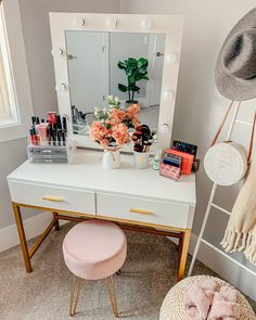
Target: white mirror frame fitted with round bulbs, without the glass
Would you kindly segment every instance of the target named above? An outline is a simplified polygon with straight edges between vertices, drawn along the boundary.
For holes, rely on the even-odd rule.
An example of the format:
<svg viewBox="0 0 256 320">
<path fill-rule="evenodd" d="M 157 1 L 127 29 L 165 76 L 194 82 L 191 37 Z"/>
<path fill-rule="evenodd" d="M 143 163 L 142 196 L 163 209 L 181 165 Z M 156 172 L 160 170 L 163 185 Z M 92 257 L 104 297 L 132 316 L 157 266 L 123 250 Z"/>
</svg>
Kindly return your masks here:
<svg viewBox="0 0 256 320">
<path fill-rule="evenodd" d="M 166 36 L 157 143 L 155 148 L 162 150 L 169 148 L 178 85 L 183 16 L 50 12 L 49 17 L 59 111 L 68 116 L 71 116 L 71 94 L 65 41 L 66 30 L 148 33 L 164 34 Z M 101 149 L 89 136 L 79 136 L 73 132 L 72 136 L 77 146 Z M 126 145 L 121 151 L 130 152 L 132 150 L 130 145 Z"/>
</svg>

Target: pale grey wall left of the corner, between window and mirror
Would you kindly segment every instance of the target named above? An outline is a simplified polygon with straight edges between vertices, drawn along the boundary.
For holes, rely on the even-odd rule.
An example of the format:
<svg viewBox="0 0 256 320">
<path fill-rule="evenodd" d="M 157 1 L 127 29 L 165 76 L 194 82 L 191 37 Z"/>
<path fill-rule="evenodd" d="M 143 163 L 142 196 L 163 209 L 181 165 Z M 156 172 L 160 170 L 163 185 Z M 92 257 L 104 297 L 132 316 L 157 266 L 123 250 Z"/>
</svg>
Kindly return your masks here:
<svg viewBox="0 0 256 320">
<path fill-rule="evenodd" d="M 44 116 L 47 111 L 57 107 L 48 13 L 50 11 L 117 13 L 119 0 L 20 0 L 20 7 L 34 112 Z M 25 148 L 26 139 L 0 143 L 0 231 L 14 223 L 5 177 L 26 159 Z M 24 213 L 26 218 L 31 215 L 34 215 L 31 212 Z"/>
</svg>

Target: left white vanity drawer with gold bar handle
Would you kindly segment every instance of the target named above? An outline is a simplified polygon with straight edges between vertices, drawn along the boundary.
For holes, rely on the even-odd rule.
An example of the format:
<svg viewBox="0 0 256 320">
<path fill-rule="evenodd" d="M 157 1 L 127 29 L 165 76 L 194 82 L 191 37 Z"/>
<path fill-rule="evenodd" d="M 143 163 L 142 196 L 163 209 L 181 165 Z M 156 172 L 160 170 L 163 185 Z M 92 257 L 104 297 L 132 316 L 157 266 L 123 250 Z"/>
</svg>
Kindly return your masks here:
<svg viewBox="0 0 256 320">
<path fill-rule="evenodd" d="M 10 181 L 13 202 L 75 213 L 95 214 L 93 191 Z"/>
</svg>

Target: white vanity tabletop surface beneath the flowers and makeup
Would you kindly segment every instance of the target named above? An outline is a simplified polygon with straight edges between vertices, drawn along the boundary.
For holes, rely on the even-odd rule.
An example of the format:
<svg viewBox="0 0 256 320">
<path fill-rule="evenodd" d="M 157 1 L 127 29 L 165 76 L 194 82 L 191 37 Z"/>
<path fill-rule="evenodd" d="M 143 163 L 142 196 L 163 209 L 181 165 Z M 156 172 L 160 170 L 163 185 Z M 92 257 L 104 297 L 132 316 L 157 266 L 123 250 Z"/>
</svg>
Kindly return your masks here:
<svg viewBox="0 0 256 320">
<path fill-rule="evenodd" d="M 195 175 L 179 181 L 161 177 L 158 171 L 133 168 L 133 156 L 121 154 L 118 169 L 104 169 L 102 152 L 76 150 L 69 164 L 29 164 L 25 162 L 8 176 L 9 181 L 39 183 L 77 190 L 93 190 L 195 206 Z"/>
</svg>

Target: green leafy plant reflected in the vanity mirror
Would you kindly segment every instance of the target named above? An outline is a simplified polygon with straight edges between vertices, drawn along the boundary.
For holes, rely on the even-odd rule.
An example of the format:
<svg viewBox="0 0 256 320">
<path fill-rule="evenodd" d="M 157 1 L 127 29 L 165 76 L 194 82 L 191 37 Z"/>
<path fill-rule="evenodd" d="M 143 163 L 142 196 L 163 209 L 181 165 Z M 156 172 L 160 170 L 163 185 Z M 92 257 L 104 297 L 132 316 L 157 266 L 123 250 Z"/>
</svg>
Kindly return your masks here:
<svg viewBox="0 0 256 320">
<path fill-rule="evenodd" d="M 124 69 L 127 76 L 127 86 L 118 84 L 118 89 L 121 92 L 128 92 L 127 103 L 136 103 L 135 93 L 140 91 L 140 87 L 137 82 L 140 80 L 149 80 L 148 66 L 149 61 L 145 57 L 135 59 L 128 57 L 128 60 L 119 61 L 117 63 L 119 69 Z"/>
</svg>

